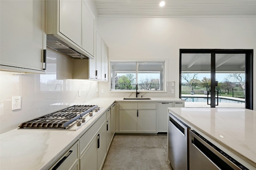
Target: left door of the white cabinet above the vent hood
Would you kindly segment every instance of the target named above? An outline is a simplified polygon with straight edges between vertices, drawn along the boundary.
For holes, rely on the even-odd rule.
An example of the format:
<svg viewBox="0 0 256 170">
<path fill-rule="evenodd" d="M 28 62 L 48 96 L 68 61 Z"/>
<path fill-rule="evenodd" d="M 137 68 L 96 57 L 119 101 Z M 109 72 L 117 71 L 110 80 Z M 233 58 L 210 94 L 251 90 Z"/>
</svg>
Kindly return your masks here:
<svg viewBox="0 0 256 170">
<path fill-rule="evenodd" d="M 82 47 L 82 0 L 59 0 L 59 31 Z"/>
</svg>

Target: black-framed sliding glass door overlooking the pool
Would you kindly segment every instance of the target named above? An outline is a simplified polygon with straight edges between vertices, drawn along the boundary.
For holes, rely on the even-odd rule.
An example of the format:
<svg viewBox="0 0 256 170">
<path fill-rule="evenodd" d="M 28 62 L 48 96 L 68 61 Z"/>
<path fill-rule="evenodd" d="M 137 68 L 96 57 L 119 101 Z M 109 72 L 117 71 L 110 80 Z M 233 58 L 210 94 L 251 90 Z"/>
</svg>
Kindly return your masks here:
<svg viewBox="0 0 256 170">
<path fill-rule="evenodd" d="M 252 109 L 252 50 L 180 50 L 185 107 Z"/>
</svg>

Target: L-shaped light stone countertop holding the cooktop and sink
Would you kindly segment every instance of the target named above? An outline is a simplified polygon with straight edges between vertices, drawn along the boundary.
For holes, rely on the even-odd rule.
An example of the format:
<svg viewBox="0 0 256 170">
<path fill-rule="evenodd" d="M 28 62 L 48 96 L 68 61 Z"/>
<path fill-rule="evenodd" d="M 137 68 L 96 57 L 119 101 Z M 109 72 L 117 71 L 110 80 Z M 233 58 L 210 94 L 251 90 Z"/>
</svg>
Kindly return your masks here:
<svg viewBox="0 0 256 170">
<path fill-rule="evenodd" d="M 123 98 L 96 98 L 83 104 L 97 104 L 100 110 L 76 131 L 14 129 L 0 135 L 1 170 L 45 170 L 65 153 L 114 102 L 170 102 L 177 98 L 152 100 L 123 100 Z M 75 104 L 74 104 L 75 105 Z M 18 128 L 18 127 L 17 127 Z"/>
</svg>

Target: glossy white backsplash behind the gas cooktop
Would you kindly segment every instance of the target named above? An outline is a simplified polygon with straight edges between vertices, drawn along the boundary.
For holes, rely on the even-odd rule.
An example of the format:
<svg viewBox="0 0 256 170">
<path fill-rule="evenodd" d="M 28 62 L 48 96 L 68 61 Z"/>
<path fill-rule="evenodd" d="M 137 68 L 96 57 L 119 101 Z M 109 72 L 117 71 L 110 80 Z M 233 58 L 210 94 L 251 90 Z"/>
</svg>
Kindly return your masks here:
<svg viewBox="0 0 256 170">
<path fill-rule="evenodd" d="M 0 71 L 0 133 L 16 129 L 24 121 L 99 96 L 98 82 L 66 79 L 72 77 L 71 57 L 47 48 L 46 62 L 46 74 Z M 12 96 L 21 96 L 21 109 L 12 110 Z"/>
</svg>

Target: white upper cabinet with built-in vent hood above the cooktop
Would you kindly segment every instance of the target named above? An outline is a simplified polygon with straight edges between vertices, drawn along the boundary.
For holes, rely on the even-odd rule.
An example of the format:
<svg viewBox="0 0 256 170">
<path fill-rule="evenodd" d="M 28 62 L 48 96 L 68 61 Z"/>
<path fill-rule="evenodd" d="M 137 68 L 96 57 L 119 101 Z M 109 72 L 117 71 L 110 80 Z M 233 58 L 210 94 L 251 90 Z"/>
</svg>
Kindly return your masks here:
<svg viewBox="0 0 256 170">
<path fill-rule="evenodd" d="M 46 0 L 46 45 L 94 59 L 94 14 L 84 0 Z"/>
</svg>

